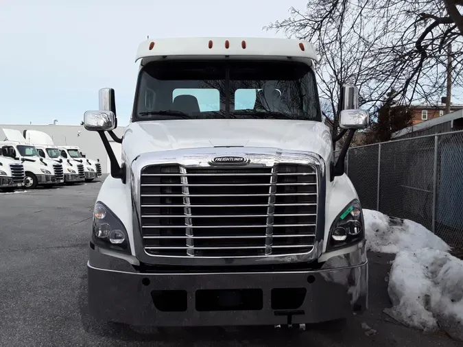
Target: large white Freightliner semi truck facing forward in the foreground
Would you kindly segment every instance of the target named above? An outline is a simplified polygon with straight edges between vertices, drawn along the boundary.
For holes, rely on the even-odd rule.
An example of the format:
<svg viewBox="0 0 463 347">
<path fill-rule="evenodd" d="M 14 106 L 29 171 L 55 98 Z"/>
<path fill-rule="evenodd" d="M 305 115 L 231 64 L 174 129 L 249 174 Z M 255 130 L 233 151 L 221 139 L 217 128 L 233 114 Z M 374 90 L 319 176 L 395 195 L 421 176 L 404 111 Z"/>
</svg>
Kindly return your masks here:
<svg viewBox="0 0 463 347">
<path fill-rule="evenodd" d="M 110 158 L 89 250 L 88 304 L 108 321 L 278 325 L 367 309 L 359 197 L 344 173 L 368 126 L 342 88 L 339 159 L 322 123 L 316 52 L 277 38 L 159 38 L 139 46 L 130 124 L 114 90 L 84 114 Z M 122 144 L 121 165 L 106 132 Z"/>
</svg>

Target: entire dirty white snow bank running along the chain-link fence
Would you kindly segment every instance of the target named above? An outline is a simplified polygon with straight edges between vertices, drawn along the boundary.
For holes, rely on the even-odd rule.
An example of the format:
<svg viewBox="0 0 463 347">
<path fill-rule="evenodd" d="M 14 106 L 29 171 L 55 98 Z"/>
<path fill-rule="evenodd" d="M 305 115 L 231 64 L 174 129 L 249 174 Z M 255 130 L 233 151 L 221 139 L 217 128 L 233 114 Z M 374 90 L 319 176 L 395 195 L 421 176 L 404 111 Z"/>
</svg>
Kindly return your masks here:
<svg viewBox="0 0 463 347">
<path fill-rule="evenodd" d="M 463 261 L 424 226 L 364 210 L 367 248 L 396 253 L 384 312 L 425 332 L 442 329 L 463 340 Z"/>
</svg>

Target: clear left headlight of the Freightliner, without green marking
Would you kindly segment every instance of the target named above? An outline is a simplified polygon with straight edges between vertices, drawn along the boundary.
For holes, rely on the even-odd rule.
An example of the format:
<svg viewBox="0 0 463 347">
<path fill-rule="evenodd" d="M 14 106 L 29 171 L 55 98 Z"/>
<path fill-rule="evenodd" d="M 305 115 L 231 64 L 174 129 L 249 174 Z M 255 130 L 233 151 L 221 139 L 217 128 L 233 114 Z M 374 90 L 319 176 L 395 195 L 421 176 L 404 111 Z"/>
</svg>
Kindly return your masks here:
<svg viewBox="0 0 463 347">
<path fill-rule="evenodd" d="M 92 241 L 96 246 L 130 254 L 126 228 L 102 202 L 93 208 Z"/>
</svg>

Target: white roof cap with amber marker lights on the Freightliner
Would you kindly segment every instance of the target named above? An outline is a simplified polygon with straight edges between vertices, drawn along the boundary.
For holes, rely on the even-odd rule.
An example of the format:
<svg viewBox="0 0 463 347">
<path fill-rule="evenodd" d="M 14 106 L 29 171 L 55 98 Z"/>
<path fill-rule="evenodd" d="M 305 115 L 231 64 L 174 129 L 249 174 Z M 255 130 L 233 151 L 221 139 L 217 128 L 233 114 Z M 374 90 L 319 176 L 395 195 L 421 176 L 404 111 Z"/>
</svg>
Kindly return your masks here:
<svg viewBox="0 0 463 347">
<path fill-rule="evenodd" d="M 241 37 L 148 38 L 139 45 L 135 61 L 226 57 L 318 61 L 313 45 L 304 40 Z"/>
</svg>

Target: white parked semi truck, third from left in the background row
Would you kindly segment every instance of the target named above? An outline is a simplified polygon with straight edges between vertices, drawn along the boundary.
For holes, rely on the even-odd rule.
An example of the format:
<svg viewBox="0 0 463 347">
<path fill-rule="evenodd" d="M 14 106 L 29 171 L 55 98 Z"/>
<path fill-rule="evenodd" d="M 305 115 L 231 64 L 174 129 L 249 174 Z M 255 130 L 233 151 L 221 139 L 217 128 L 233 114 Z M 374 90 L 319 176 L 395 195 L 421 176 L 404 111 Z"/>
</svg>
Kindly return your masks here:
<svg viewBox="0 0 463 347">
<path fill-rule="evenodd" d="M 58 146 L 54 145 L 51 136 L 45 132 L 38 130 L 24 130 L 23 136 L 27 142 L 34 144 L 38 155 L 42 158 L 54 160 L 57 163 L 62 163 L 64 170 L 64 183 L 74 184 L 82 183 L 85 180 L 85 169 L 82 163 L 76 163 L 74 160 L 63 158 Z"/>
</svg>

